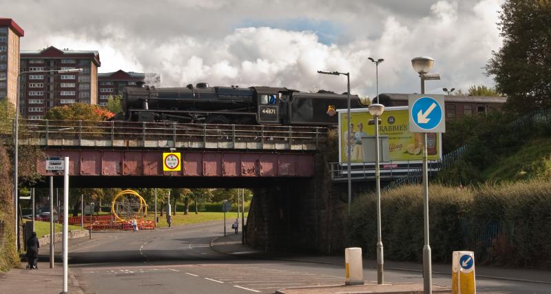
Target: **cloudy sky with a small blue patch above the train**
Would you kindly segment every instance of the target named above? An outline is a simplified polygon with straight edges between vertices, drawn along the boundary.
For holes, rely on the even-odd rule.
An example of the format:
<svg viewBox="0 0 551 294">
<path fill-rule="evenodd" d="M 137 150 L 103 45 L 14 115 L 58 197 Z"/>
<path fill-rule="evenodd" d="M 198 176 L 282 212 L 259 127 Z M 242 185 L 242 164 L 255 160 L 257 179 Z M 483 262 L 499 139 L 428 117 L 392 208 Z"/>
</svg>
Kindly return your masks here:
<svg viewBox="0 0 551 294">
<path fill-rule="evenodd" d="M 484 65 L 501 38 L 502 0 L 0 0 L 25 30 L 22 50 L 97 50 L 99 72 L 156 72 L 164 87 L 268 85 L 302 91 L 419 91 L 410 60 L 435 59 L 430 93 L 492 86 Z"/>
</svg>

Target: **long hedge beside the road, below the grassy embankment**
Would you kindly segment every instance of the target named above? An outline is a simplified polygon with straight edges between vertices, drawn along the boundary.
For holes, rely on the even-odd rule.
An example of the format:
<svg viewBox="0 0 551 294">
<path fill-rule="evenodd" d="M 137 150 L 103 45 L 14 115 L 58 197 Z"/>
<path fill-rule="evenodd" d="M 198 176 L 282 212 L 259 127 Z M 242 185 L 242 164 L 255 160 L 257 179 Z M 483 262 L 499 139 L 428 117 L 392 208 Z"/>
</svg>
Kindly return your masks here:
<svg viewBox="0 0 551 294">
<path fill-rule="evenodd" d="M 382 195 L 382 242 L 388 260 L 422 261 L 422 187 Z M 551 183 L 545 180 L 458 189 L 431 185 L 430 247 L 435 262 L 475 251 L 477 264 L 551 268 Z M 375 258 L 375 194 L 358 197 L 348 218 L 347 246 Z"/>
</svg>

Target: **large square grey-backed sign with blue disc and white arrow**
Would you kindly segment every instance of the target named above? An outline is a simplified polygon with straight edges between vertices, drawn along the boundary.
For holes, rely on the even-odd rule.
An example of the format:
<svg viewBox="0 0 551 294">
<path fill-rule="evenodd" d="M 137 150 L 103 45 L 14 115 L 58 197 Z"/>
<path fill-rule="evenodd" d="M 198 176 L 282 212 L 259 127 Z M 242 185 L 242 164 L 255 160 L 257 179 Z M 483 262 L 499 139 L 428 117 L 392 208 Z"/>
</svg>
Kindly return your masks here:
<svg viewBox="0 0 551 294">
<path fill-rule="evenodd" d="M 445 133 L 444 95 L 409 95 L 409 132 Z"/>
</svg>

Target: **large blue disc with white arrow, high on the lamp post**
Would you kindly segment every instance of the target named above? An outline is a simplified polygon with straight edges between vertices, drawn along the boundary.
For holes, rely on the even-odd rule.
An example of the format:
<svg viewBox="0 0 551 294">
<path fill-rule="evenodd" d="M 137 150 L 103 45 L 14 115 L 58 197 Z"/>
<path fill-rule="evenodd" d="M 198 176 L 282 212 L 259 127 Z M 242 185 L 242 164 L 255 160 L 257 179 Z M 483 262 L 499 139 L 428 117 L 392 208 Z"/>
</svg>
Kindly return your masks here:
<svg viewBox="0 0 551 294">
<path fill-rule="evenodd" d="M 442 121 L 442 108 L 438 101 L 430 97 L 421 97 L 411 107 L 413 123 L 421 129 L 434 129 Z"/>
</svg>

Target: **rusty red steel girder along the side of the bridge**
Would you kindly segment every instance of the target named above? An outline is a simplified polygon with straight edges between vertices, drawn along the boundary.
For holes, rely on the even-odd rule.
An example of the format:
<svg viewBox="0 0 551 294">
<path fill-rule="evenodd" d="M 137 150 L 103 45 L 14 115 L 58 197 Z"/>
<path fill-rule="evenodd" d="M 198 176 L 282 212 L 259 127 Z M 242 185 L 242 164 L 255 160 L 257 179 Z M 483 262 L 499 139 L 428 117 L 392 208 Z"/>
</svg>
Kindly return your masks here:
<svg viewBox="0 0 551 294">
<path fill-rule="evenodd" d="M 47 156 L 69 156 L 70 176 L 180 176 L 287 178 L 313 177 L 314 155 L 230 151 L 180 151 L 181 171 L 163 171 L 163 151 L 46 149 Z M 45 170 L 42 176 L 56 176 Z"/>
</svg>

